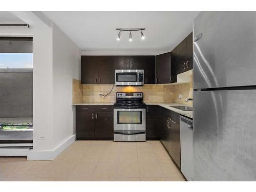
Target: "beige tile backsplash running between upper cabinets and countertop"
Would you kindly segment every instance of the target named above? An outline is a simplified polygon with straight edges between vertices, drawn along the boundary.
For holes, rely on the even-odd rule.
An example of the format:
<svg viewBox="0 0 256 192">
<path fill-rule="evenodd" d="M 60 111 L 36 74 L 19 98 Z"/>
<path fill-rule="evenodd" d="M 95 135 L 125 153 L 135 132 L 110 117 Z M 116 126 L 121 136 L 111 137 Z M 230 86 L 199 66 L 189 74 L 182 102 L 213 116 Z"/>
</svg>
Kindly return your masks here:
<svg viewBox="0 0 256 192">
<path fill-rule="evenodd" d="M 73 103 L 79 102 L 115 102 L 116 92 L 143 92 L 145 102 L 178 102 L 192 105 L 192 101 L 185 102 L 185 98 L 192 97 L 192 82 L 183 84 L 145 84 L 142 87 L 116 87 L 115 85 L 81 85 L 80 80 L 73 79 Z M 113 87 L 112 92 L 108 94 Z M 179 99 L 179 94 L 182 98 Z"/>
</svg>

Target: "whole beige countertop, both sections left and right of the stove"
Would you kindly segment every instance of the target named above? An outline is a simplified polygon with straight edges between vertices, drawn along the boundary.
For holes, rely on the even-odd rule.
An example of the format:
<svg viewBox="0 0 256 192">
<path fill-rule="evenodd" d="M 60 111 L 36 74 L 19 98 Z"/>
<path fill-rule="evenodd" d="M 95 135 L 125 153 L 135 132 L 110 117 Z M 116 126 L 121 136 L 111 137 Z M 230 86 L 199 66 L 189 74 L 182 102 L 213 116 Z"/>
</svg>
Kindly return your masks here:
<svg viewBox="0 0 256 192">
<path fill-rule="evenodd" d="M 82 102 L 82 103 L 75 103 L 72 105 L 113 105 L 115 102 Z M 166 108 L 168 110 L 172 110 L 176 113 L 179 113 L 181 115 L 184 115 L 189 118 L 193 118 L 193 112 L 192 111 L 182 111 L 175 108 L 172 108 L 172 106 L 175 105 L 184 105 L 181 103 L 175 103 L 175 102 L 144 102 L 147 105 L 159 105 L 163 108 Z"/>
</svg>

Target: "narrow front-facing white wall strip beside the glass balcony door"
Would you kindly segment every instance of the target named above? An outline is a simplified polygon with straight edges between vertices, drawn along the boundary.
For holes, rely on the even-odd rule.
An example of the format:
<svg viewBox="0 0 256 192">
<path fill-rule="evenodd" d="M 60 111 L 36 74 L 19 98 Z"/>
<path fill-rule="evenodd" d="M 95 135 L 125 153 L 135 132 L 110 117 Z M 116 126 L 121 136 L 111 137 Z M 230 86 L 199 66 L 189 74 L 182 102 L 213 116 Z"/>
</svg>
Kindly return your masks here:
<svg viewBox="0 0 256 192">
<path fill-rule="evenodd" d="M 43 23 L 33 26 L 33 151 L 53 147 L 52 59 L 52 28 Z"/>
</svg>

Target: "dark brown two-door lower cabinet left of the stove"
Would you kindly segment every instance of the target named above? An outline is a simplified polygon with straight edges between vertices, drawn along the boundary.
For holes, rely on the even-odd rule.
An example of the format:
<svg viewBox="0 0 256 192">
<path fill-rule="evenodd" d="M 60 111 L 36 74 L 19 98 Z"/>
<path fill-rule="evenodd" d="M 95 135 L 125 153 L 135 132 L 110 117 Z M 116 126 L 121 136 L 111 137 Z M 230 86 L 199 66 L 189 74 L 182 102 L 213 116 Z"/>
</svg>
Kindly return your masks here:
<svg viewBox="0 0 256 192">
<path fill-rule="evenodd" d="M 76 139 L 113 139 L 112 105 L 77 105 Z"/>
</svg>

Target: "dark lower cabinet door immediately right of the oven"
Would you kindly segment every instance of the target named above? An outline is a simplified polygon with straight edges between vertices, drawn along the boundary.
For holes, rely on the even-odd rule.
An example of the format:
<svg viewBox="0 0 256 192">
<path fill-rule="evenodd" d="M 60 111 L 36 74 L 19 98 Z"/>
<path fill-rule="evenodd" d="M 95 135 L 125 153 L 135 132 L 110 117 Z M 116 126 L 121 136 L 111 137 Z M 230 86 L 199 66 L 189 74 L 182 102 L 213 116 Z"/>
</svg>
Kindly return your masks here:
<svg viewBox="0 0 256 192">
<path fill-rule="evenodd" d="M 158 105 L 146 106 L 146 139 L 159 138 Z"/>
</svg>

